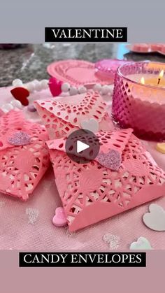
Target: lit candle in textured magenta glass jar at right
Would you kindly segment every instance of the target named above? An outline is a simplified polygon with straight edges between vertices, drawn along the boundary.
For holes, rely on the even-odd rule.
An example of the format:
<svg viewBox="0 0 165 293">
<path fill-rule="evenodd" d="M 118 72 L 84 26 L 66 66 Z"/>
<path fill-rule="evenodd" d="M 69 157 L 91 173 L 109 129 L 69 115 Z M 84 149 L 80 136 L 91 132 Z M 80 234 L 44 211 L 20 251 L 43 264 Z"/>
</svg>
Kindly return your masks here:
<svg viewBox="0 0 165 293">
<path fill-rule="evenodd" d="M 163 70 L 165 64 L 157 62 L 129 62 L 117 69 L 113 120 L 133 128 L 140 138 L 165 139 L 165 76 L 159 76 Z"/>
</svg>

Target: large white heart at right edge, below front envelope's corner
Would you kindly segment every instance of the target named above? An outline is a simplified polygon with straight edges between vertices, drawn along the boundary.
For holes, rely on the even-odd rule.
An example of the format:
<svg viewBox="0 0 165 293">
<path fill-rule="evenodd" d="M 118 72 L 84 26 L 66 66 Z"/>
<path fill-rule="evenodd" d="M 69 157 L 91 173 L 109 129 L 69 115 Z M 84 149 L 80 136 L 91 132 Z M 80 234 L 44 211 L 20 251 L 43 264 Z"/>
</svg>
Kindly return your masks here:
<svg viewBox="0 0 165 293">
<path fill-rule="evenodd" d="M 155 231 L 165 231 L 165 210 L 162 206 L 152 203 L 149 206 L 150 213 L 143 215 L 145 225 Z"/>
</svg>

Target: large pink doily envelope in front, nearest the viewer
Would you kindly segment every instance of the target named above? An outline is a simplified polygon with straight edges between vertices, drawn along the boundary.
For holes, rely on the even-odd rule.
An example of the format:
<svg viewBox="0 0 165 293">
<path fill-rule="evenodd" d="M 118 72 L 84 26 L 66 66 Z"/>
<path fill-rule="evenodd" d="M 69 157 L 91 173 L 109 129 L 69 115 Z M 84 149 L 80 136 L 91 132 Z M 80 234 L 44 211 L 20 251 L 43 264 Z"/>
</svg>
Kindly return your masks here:
<svg viewBox="0 0 165 293">
<path fill-rule="evenodd" d="M 99 131 L 96 136 L 100 152 L 87 164 L 73 162 L 66 155 L 66 138 L 47 143 L 70 231 L 165 195 L 165 173 L 132 134 L 132 129 Z M 107 159 L 110 150 L 121 156 L 117 171 L 105 166 L 108 159 L 112 161 Z M 100 155 L 104 155 L 105 162 Z"/>
</svg>

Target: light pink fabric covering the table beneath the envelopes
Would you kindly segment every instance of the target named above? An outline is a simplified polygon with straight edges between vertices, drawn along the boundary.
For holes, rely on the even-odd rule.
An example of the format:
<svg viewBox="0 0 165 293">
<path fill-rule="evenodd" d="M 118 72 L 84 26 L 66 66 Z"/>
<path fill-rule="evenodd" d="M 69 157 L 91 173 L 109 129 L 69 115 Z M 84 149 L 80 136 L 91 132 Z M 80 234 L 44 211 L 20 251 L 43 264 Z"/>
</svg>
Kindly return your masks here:
<svg viewBox="0 0 165 293">
<path fill-rule="evenodd" d="M 8 88 L 0 89 L 0 104 L 12 99 Z M 47 90 L 32 94 L 30 99 L 50 97 Z M 31 120 L 38 121 L 36 113 L 24 111 Z M 145 142 L 155 161 L 165 170 L 165 155 L 155 150 L 155 143 Z M 164 194 L 165 195 L 165 194 Z M 165 198 L 156 201 L 165 209 Z M 152 248 L 165 249 L 165 232 L 152 231 L 142 221 L 148 212 L 146 203 L 99 224 L 87 227 L 73 234 L 67 228 L 52 225 L 55 208 L 62 206 L 55 186 L 52 167 L 48 169 L 41 183 L 27 202 L 21 202 L 0 194 L 0 249 L 36 251 L 108 251 L 112 249 L 129 250 L 129 245 L 138 237 L 148 238 Z M 103 241 L 105 234 L 112 234 L 111 244 Z"/>
</svg>

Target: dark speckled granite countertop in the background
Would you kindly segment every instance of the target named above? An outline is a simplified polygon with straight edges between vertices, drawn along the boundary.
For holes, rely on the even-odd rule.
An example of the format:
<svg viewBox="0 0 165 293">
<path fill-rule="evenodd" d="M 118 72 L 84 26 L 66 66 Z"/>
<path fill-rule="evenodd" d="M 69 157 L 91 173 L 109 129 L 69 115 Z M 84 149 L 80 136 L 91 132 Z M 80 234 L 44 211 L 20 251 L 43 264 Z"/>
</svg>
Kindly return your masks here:
<svg viewBox="0 0 165 293">
<path fill-rule="evenodd" d="M 22 45 L 20 48 L 0 50 L 0 87 L 11 85 L 15 78 L 24 83 L 34 79 L 49 78 L 46 68 L 51 62 L 62 59 L 85 59 L 96 62 L 99 59 L 128 59 L 134 61 L 152 60 L 165 62 L 165 56 L 158 53 L 135 54 L 127 50 L 127 44 L 113 43 L 44 43 Z"/>
</svg>

